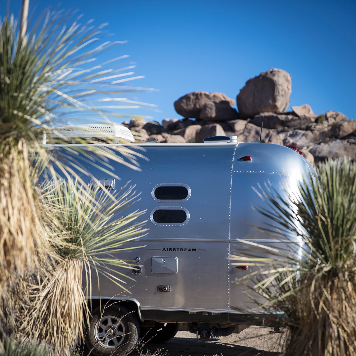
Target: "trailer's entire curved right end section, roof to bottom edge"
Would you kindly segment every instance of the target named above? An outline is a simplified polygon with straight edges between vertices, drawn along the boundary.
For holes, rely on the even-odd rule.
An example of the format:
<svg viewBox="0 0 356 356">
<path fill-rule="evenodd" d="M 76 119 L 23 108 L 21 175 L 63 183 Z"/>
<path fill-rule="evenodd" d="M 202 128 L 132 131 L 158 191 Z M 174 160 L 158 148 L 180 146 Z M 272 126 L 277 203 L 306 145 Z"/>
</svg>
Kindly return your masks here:
<svg viewBox="0 0 356 356">
<path fill-rule="evenodd" d="M 250 162 L 240 160 L 240 157 L 244 156 L 251 156 L 252 160 Z M 307 177 L 308 173 L 312 172 L 305 159 L 287 147 L 267 143 L 240 143 L 238 145 L 233 163 L 231 186 L 230 309 L 238 308 L 247 313 L 256 310 L 257 304 L 244 293 L 248 291 L 248 287 L 236 284 L 236 281 L 249 273 L 258 271 L 259 268 L 248 266 L 248 263 L 243 260 L 239 261 L 231 256 L 276 258 L 276 256 L 268 255 L 265 250 L 251 247 L 236 239 L 277 248 L 299 258 L 302 258 L 302 249 L 305 248 L 302 240 L 292 234 L 284 236 L 284 241 L 281 241 L 256 229 L 256 227 L 267 227 L 266 224 L 274 224 L 276 228 L 278 225 L 255 210 L 255 208 L 268 208 L 268 205 L 258 196 L 254 188 L 260 193 L 263 189 L 274 189 L 286 199 L 290 199 L 298 191 L 298 182 L 302 181 L 303 177 Z M 247 271 L 237 269 L 236 263 L 247 265 Z M 253 293 L 252 296 L 261 303 L 264 302 L 259 295 Z"/>
</svg>

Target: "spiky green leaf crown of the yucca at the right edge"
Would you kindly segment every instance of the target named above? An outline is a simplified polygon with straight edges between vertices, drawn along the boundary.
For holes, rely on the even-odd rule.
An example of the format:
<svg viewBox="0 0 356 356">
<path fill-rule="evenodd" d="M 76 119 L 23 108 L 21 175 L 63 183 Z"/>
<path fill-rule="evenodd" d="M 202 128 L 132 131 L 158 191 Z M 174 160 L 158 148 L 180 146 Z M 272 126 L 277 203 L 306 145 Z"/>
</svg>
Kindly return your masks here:
<svg viewBox="0 0 356 356">
<path fill-rule="evenodd" d="M 274 223 L 259 228 L 278 239 L 287 232 L 302 237 L 312 250 L 312 266 L 333 268 L 337 274 L 356 257 L 356 163 L 329 160 L 315 172 L 318 179 L 306 177 L 291 200 L 272 187 L 262 189 L 260 197 L 269 208 L 256 209 Z"/>
</svg>

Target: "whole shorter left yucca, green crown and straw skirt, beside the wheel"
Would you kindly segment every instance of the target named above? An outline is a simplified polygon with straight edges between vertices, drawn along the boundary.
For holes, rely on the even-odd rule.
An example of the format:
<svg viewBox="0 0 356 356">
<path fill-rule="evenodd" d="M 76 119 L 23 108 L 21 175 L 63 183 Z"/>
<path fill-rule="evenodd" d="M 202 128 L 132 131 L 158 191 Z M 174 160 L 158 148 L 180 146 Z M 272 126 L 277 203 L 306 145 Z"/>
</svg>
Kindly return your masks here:
<svg viewBox="0 0 356 356">
<path fill-rule="evenodd" d="M 90 201 L 78 182 L 59 181 L 42 188 L 41 212 L 49 215 L 47 229 L 56 260 L 42 268 L 37 283 L 28 284 L 31 303 L 20 330 L 56 346 L 60 354 L 68 354 L 83 336 L 91 273 L 102 274 L 127 290 L 124 279 L 130 277 L 118 267 L 132 267 L 114 255 L 146 231 L 142 222 L 135 223 L 142 212 L 123 215 L 136 199 L 133 187 L 122 187 L 112 198 L 98 189 L 88 192 Z M 82 290 L 83 271 L 86 292 Z"/>
</svg>

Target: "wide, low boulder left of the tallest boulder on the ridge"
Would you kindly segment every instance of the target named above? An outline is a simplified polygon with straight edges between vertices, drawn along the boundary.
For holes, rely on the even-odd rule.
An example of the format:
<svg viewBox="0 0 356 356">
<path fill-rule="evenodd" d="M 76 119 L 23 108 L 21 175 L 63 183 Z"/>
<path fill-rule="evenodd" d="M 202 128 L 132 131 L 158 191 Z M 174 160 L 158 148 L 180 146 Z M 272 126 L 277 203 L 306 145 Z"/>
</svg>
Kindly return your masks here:
<svg viewBox="0 0 356 356">
<path fill-rule="evenodd" d="M 207 121 L 230 121 L 238 119 L 235 101 L 223 93 L 193 91 L 174 102 L 179 115 Z"/>
</svg>

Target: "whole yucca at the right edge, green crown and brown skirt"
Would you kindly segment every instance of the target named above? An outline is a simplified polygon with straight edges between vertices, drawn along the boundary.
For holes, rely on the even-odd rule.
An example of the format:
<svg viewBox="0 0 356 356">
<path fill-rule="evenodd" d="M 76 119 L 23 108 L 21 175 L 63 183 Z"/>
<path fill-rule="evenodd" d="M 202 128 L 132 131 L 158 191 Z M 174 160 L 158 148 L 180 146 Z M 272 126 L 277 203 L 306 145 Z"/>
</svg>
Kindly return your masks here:
<svg viewBox="0 0 356 356">
<path fill-rule="evenodd" d="M 279 225 L 262 231 L 277 239 L 292 232 L 302 237 L 310 255 L 299 260 L 252 244 L 274 258 L 256 258 L 262 270 L 240 283 L 267 299 L 260 307 L 287 314 L 286 356 L 356 355 L 356 163 L 329 160 L 315 172 L 319 180 L 300 183 L 294 201 L 266 185 L 260 196 L 268 208 L 257 208 Z"/>
</svg>

